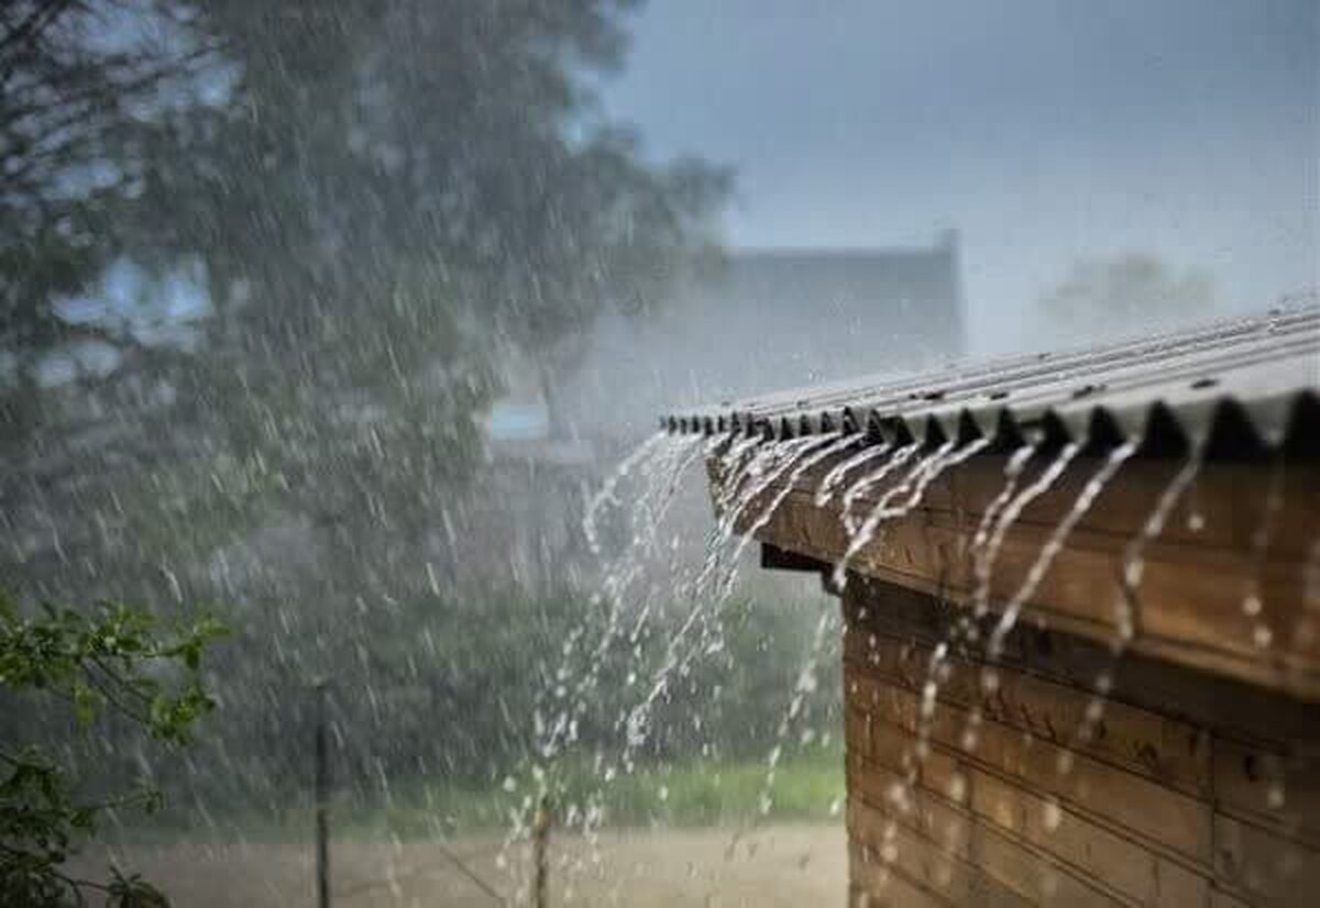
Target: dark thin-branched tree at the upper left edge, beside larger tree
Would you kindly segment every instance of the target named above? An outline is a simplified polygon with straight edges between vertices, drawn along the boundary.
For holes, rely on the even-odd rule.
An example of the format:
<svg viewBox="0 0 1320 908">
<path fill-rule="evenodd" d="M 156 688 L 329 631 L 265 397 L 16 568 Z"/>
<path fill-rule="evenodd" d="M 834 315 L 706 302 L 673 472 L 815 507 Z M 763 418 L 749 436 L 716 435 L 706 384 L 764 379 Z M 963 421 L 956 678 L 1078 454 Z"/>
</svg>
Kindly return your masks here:
<svg viewBox="0 0 1320 908">
<path fill-rule="evenodd" d="M 119 206 L 141 191 L 128 152 L 209 59 L 185 11 L 161 0 L 0 8 L 0 422 L 11 433 L 32 422 L 51 352 L 141 347 L 125 319 L 70 317 L 62 302 L 117 253 Z"/>
</svg>

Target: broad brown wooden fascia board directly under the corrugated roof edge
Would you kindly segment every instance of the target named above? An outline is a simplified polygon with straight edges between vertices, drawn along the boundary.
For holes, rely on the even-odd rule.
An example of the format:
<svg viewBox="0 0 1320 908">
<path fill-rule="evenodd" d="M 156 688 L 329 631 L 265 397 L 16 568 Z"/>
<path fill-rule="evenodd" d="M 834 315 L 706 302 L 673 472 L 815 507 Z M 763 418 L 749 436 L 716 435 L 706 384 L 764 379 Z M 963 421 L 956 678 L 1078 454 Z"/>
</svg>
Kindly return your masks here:
<svg viewBox="0 0 1320 908">
<path fill-rule="evenodd" d="M 1027 508 L 1007 533 L 993 574 L 1003 602 L 1020 586 L 1047 533 L 1067 512 L 1096 463 L 1078 463 L 1059 488 Z M 1122 597 L 1123 552 L 1168 482 L 1171 465 L 1131 462 L 1081 521 L 1043 579 L 1030 619 L 1100 641 L 1114 636 L 1114 603 Z M 974 458 L 941 476 L 923 508 L 886 528 L 859 553 L 858 571 L 912 589 L 966 599 L 974 589 L 966 557 L 986 503 L 1002 487 L 1002 462 Z M 810 488 L 788 495 L 759 538 L 805 557 L 834 562 L 847 545 L 837 505 L 817 508 Z M 1133 649 L 1320 699 L 1320 619 L 1304 608 L 1302 570 L 1320 527 L 1320 470 L 1307 465 L 1280 474 L 1282 507 L 1266 504 L 1272 474 L 1242 465 L 1208 465 L 1175 509 L 1166 533 L 1146 550 L 1139 590 L 1139 632 Z M 882 490 L 875 490 L 876 492 Z M 836 499 L 837 500 L 837 499 Z M 874 499 L 873 499 L 874 500 Z M 867 504 L 861 504 L 865 512 Z M 756 513 L 756 508 L 748 508 Z M 1193 529 L 1192 515 L 1197 515 Z M 1269 545 L 1251 538 L 1269 527 Z M 1263 607 L 1243 602 L 1258 585 Z"/>
</svg>

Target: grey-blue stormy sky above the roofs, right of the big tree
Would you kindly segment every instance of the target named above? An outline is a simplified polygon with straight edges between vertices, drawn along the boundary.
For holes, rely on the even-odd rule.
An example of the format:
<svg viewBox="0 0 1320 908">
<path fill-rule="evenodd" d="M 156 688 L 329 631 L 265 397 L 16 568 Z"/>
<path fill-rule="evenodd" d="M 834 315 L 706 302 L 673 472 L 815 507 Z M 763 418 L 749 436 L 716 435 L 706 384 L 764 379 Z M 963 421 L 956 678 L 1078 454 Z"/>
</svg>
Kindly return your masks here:
<svg viewBox="0 0 1320 908">
<path fill-rule="evenodd" d="M 731 245 L 954 227 L 975 351 L 1032 346 L 1084 257 L 1203 269 L 1224 314 L 1320 284 L 1316 0 L 651 0 L 632 24 L 605 107 L 656 158 L 737 169 Z"/>
</svg>

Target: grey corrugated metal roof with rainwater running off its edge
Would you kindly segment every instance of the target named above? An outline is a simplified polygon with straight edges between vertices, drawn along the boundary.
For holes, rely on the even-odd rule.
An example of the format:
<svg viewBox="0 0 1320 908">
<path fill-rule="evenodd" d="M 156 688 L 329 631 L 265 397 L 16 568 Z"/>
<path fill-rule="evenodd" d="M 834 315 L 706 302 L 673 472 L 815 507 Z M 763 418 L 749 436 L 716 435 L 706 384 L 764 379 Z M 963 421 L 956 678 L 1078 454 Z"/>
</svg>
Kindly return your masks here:
<svg viewBox="0 0 1320 908">
<path fill-rule="evenodd" d="M 1138 438 L 1147 453 L 1205 447 L 1320 455 L 1320 304 L 1084 350 L 969 363 L 894 380 L 813 385 L 673 413 L 682 433 L 869 432 L 895 443 L 986 437 L 995 447 Z"/>
</svg>

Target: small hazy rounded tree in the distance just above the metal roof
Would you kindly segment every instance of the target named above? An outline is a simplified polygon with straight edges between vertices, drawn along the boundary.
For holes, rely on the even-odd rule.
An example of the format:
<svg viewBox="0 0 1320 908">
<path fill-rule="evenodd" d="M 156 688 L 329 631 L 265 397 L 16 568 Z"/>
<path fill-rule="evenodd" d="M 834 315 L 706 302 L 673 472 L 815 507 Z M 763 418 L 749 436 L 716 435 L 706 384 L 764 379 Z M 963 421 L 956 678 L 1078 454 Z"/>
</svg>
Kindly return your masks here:
<svg viewBox="0 0 1320 908">
<path fill-rule="evenodd" d="M 1210 278 L 1179 273 L 1152 255 L 1129 252 L 1084 260 L 1040 301 L 1045 315 L 1085 337 L 1130 335 L 1152 326 L 1197 318 L 1213 308 Z"/>
</svg>

